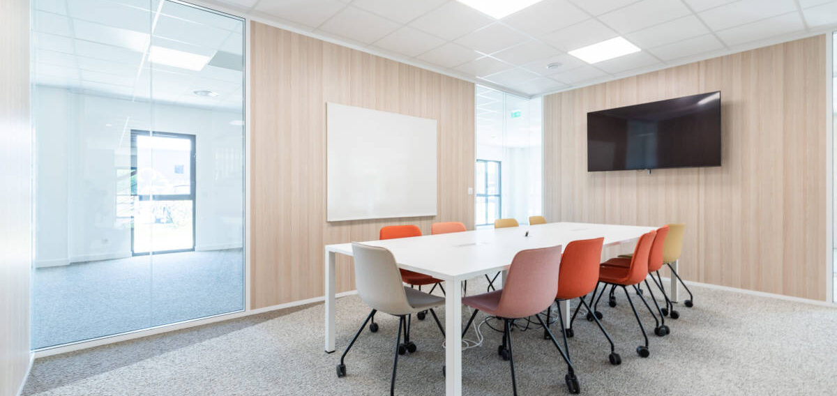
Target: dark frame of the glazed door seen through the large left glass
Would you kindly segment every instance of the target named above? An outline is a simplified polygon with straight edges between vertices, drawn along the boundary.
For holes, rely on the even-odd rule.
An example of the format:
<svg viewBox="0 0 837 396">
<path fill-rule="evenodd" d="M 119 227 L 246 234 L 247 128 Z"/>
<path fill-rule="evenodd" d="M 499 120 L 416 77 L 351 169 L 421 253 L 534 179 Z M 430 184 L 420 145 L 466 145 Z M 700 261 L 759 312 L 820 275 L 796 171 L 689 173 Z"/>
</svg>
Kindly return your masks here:
<svg viewBox="0 0 837 396">
<path fill-rule="evenodd" d="M 177 139 L 188 139 L 192 142 L 192 152 L 190 152 L 190 162 L 189 162 L 189 182 L 191 183 L 190 193 L 187 194 L 164 194 L 164 195 L 139 195 L 136 193 L 136 136 L 160 136 L 160 137 L 173 137 Z M 187 133 L 174 133 L 174 132 L 158 132 L 158 131 L 142 131 L 137 129 L 131 130 L 131 197 L 137 197 L 140 201 L 192 201 L 192 247 L 189 249 L 172 249 L 172 250 L 160 250 L 160 251 L 148 251 L 148 252 L 140 252 L 137 253 L 134 250 L 134 230 L 135 227 L 135 219 L 134 219 L 134 211 L 131 211 L 131 256 L 141 256 L 141 255 L 151 255 L 151 253 L 155 255 L 162 255 L 167 253 L 182 253 L 182 252 L 193 252 L 195 251 L 195 245 L 197 244 L 197 208 L 198 208 L 198 200 L 197 200 L 197 192 L 198 192 L 198 184 L 196 174 L 198 171 L 196 170 L 196 152 L 197 152 L 197 141 L 195 139 L 195 135 L 190 135 Z M 188 197 L 188 198 L 183 198 Z"/>
</svg>

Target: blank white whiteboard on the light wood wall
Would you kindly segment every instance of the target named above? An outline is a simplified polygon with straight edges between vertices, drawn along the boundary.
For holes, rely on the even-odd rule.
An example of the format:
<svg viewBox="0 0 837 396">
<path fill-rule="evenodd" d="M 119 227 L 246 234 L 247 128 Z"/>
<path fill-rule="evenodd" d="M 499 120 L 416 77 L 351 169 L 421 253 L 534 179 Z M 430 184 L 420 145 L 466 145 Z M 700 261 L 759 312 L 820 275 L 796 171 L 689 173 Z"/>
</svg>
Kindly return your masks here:
<svg viewBox="0 0 837 396">
<path fill-rule="evenodd" d="M 328 103 L 327 219 L 436 215 L 436 120 Z"/>
</svg>

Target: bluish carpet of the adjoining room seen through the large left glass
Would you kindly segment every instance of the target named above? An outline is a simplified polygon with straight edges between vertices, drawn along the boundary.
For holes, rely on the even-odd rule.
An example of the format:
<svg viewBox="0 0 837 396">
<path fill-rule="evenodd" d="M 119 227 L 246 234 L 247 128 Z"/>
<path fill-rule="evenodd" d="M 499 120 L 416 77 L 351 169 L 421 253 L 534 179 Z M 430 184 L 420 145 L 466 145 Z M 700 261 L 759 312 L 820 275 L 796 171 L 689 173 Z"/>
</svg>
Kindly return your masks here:
<svg viewBox="0 0 837 396">
<path fill-rule="evenodd" d="M 33 271 L 32 347 L 242 309 L 242 249 L 39 268 Z"/>
</svg>

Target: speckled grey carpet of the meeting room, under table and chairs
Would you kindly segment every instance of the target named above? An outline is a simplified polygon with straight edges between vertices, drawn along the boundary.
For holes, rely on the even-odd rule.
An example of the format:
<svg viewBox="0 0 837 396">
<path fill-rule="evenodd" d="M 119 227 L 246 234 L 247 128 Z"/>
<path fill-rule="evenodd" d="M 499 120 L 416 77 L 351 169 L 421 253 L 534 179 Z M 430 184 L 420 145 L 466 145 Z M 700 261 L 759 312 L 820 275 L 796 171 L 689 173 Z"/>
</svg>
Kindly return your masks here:
<svg viewBox="0 0 837 396">
<path fill-rule="evenodd" d="M 469 282 L 470 291 L 485 286 Z M 837 394 L 837 309 L 693 287 L 696 306 L 678 307 L 671 334 L 650 335 L 651 356 L 623 294 L 603 322 L 622 355 L 581 320 L 570 350 L 583 394 Z M 644 310 L 644 308 L 643 308 Z M 367 315 L 357 296 L 337 301 L 337 345 Z M 439 312 L 444 317 L 444 310 Z M 275 311 L 35 361 L 25 395 L 381 395 L 387 394 L 398 320 L 379 315 L 336 378 L 340 351 L 323 352 L 323 306 Z M 478 316 L 478 317 L 481 317 Z M 652 325 L 647 311 L 646 325 Z M 442 318 L 444 323 L 444 318 Z M 464 393 L 511 394 L 509 364 L 496 354 L 500 333 L 482 327 L 483 347 L 463 355 Z M 467 338 L 473 338 L 470 332 Z M 513 335 L 520 394 L 566 394 L 565 366 L 540 330 Z M 396 394 L 444 394 L 442 338 L 434 322 L 413 320 L 419 351 L 398 359 Z"/>
</svg>

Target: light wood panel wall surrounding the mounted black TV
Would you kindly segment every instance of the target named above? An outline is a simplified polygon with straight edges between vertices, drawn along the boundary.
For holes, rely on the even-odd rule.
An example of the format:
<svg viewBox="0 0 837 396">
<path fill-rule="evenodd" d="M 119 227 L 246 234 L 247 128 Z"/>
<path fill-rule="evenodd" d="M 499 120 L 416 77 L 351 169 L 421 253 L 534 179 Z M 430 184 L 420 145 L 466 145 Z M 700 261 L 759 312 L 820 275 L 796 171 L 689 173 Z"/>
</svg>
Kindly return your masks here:
<svg viewBox="0 0 837 396">
<path fill-rule="evenodd" d="M 826 298 L 824 36 L 548 95 L 550 221 L 685 222 L 686 280 Z M 722 166 L 587 172 L 587 112 L 721 91 Z"/>
</svg>

